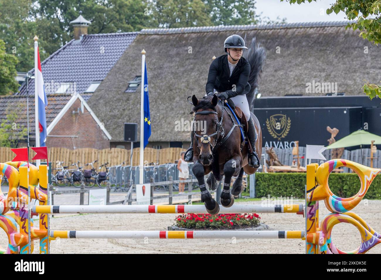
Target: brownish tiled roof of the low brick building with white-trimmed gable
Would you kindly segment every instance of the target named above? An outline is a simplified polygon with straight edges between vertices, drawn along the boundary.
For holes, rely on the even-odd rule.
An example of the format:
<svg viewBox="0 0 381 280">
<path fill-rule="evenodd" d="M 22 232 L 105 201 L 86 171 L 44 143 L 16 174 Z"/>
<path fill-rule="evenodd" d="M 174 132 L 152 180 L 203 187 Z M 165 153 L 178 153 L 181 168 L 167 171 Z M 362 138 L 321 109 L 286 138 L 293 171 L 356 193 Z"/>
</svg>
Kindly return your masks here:
<svg viewBox="0 0 381 280">
<path fill-rule="evenodd" d="M 62 108 L 72 98 L 71 94 L 49 94 L 48 106 L 46 107 L 46 126 L 49 126 Z M 7 110 L 8 108 L 8 110 Z M 27 97 L 26 96 L 0 96 L 0 122 L 6 118 L 6 114 L 15 112 L 18 116 L 17 129 L 27 126 Z M 29 96 L 29 131 L 35 131 L 34 97 Z"/>
</svg>

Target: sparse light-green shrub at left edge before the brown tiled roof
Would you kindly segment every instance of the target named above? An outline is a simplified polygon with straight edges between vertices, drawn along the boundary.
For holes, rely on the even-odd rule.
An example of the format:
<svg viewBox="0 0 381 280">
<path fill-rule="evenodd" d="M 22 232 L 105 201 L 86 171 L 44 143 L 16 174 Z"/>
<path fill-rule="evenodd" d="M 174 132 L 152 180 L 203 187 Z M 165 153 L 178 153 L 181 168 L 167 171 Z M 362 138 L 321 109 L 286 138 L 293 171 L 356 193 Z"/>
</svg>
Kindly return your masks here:
<svg viewBox="0 0 381 280">
<path fill-rule="evenodd" d="M 24 104 L 12 104 L 5 110 L 6 118 L 0 124 L 0 147 L 16 148 L 19 139 L 27 134 L 27 128 L 19 124 Z"/>
</svg>

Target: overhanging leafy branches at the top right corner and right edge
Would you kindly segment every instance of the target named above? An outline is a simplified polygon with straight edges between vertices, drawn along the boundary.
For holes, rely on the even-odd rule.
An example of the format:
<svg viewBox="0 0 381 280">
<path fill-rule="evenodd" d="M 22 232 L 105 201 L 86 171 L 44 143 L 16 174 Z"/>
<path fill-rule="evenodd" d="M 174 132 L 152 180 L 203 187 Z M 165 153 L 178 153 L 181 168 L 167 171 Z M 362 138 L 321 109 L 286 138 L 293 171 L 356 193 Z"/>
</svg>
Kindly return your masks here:
<svg viewBox="0 0 381 280">
<path fill-rule="evenodd" d="M 284 0 L 280 0 L 283 2 Z M 305 3 L 306 0 L 287 0 L 290 3 Z M 307 0 L 309 3 L 312 0 Z M 316 0 L 313 0 L 316 1 Z M 381 43 L 381 0 L 336 0 L 327 8 L 327 14 L 343 11 L 349 20 L 355 20 L 349 23 L 347 28 L 352 27 L 353 30 L 360 30 L 359 36 L 367 39 L 369 42 L 378 46 Z M 381 98 L 381 85 L 376 85 L 366 81 L 362 90 L 370 99 L 378 96 Z M 377 81 L 378 82 L 378 81 Z"/>
</svg>

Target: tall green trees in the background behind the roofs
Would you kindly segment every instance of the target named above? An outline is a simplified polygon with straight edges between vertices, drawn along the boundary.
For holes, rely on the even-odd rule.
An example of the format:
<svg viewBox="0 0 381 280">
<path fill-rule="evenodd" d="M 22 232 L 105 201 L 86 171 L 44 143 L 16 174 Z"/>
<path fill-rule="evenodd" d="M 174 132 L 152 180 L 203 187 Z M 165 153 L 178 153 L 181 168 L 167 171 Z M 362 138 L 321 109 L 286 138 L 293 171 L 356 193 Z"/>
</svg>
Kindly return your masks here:
<svg viewBox="0 0 381 280">
<path fill-rule="evenodd" d="M 0 38 L 16 69 L 34 67 L 37 35 L 41 61 L 73 38 L 70 21 L 91 21 L 89 34 L 140 31 L 143 28 L 275 23 L 255 14 L 255 0 L 0 0 Z M 285 22 L 283 19 L 281 22 Z"/>
</svg>

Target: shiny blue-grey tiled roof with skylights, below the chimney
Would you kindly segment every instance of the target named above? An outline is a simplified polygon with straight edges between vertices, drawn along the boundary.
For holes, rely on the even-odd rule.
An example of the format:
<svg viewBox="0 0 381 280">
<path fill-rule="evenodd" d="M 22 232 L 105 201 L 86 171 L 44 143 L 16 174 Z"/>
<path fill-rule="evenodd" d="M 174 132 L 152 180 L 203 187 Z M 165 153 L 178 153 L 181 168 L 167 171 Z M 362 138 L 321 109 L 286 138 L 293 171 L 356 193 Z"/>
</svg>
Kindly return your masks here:
<svg viewBox="0 0 381 280">
<path fill-rule="evenodd" d="M 83 93 L 91 82 L 106 77 L 138 33 L 89 34 L 82 40 L 71 40 L 41 63 L 44 83 L 52 80 L 53 83 L 75 83 L 76 92 Z M 34 69 L 30 73 L 34 73 Z M 26 94 L 24 83 L 15 95 Z M 34 79 L 29 80 L 29 94 L 34 95 Z"/>
</svg>

